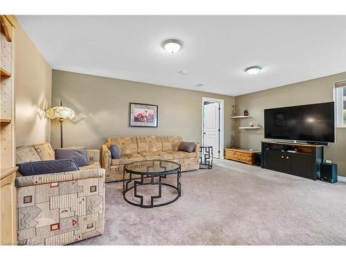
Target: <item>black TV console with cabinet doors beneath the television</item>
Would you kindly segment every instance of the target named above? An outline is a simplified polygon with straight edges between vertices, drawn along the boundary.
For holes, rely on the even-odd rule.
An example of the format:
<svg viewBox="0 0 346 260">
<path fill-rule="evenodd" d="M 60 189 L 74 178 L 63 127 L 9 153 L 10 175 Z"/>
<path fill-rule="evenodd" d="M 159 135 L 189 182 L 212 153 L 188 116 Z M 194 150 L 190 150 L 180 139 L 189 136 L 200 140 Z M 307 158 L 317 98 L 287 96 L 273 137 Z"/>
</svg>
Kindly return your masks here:
<svg viewBox="0 0 346 260">
<path fill-rule="evenodd" d="M 262 141 L 262 168 L 320 179 L 323 146 Z"/>
</svg>

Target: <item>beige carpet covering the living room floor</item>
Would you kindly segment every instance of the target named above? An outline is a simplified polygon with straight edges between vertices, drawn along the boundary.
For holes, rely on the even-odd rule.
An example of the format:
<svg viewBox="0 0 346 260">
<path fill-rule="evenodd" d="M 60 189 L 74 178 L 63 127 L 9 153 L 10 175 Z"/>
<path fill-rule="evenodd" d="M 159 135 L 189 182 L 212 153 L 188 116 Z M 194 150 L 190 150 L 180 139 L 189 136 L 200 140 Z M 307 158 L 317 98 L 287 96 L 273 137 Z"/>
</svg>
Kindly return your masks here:
<svg viewBox="0 0 346 260">
<path fill-rule="evenodd" d="M 346 182 L 222 160 L 181 184 L 179 200 L 154 209 L 107 184 L 104 234 L 74 245 L 346 245 Z"/>
</svg>

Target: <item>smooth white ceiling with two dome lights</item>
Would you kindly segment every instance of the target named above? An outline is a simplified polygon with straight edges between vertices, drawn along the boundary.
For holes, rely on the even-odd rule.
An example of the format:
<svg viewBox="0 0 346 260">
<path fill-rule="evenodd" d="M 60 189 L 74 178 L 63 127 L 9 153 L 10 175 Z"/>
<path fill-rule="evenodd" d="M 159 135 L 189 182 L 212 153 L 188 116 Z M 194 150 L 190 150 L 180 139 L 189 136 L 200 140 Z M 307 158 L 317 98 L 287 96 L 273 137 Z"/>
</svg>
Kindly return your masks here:
<svg viewBox="0 0 346 260">
<path fill-rule="evenodd" d="M 346 71 L 346 16 L 17 18 L 64 71 L 231 96 Z M 174 55 L 161 47 L 170 37 L 183 42 Z M 264 69 L 244 72 L 253 65 Z"/>
</svg>

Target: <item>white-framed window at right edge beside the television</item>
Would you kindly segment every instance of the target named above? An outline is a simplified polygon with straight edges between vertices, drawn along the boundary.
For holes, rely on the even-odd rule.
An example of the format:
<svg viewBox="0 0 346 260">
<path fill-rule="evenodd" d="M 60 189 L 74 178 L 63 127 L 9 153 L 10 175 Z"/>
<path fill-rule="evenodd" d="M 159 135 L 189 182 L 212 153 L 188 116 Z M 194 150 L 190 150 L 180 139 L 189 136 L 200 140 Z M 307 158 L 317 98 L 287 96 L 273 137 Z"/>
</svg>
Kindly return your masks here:
<svg viewBox="0 0 346 260">
<path fill-rule="evenodd" d="M 346 80 L 335 84 L 336 127 L 346 128 Z"/>
</svg>

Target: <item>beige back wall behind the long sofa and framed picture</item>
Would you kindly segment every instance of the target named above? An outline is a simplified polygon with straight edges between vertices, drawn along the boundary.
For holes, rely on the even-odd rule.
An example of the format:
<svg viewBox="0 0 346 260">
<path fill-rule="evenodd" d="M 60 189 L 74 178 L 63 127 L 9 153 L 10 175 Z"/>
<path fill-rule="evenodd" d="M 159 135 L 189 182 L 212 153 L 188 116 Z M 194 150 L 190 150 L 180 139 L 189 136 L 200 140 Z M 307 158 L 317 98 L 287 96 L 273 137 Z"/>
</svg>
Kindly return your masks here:
<svg viewBox="0 0 346 260">
<path fill-rule="evenodd" d="M 186 141 L 201 141 L 203 96 L 224 99 L 224 141 L 225 146 L 230 144 L 231 96 L 57 70 L 53 70 L 52 95 L 52 105 L 62 100 L 76 112 L 73 122 L 64 122 L 64 146 L 99 149 L 107 137 L 136 135 L 179 135 Z M 129 102 L 158 105 L 158 128 L 129 128 Z M 56 121 L 51 144 L 60 146 Z"/>
</svg>

